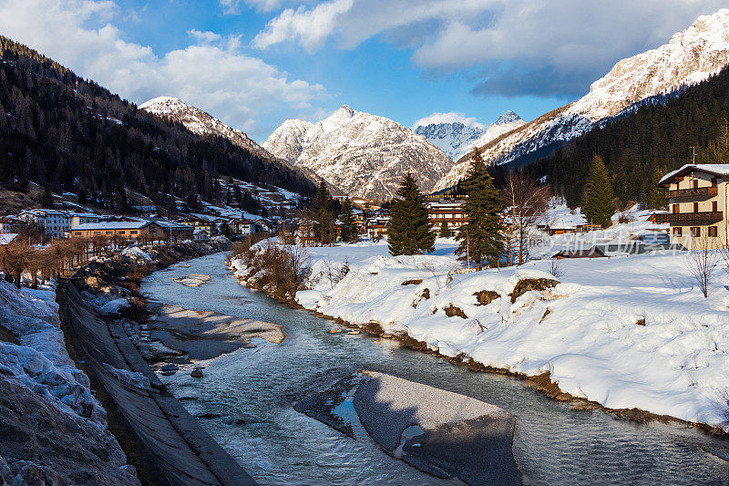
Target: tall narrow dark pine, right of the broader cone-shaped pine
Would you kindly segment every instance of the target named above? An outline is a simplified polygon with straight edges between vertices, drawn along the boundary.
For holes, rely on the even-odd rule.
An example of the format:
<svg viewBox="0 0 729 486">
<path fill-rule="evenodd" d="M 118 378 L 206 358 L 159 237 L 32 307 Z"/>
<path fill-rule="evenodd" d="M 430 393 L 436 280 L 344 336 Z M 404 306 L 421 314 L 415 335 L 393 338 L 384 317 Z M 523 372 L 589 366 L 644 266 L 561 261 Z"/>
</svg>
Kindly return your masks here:
<svg viewBox="0 0 729 486">
<path fill-rule="evenodd" d="M 463 190 L 467 193 L 463 203 L 463 212 L 467 222 L 461 226 L 457 234 L 460 240 L 459 260 L 476 262 L 480 270 L 484 262 L 498 264 L 504 255 L 504 240 L 501 235 L 502 202 L 494 180 L 488 173 L 486 162 L 481 154 L 474 151 L 467 178 L 463 181 Z"/>
</svg>

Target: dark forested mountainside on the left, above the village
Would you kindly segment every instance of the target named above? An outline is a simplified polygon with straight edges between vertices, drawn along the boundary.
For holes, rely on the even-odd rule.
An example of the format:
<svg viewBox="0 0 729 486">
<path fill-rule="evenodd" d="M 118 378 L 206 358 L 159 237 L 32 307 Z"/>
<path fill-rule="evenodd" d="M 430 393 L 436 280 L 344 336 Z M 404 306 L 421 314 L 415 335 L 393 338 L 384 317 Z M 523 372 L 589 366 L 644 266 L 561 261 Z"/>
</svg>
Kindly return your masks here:
<svg viewBox="0 0 729 486">
<path fill-rule="evenodd" d="M 168 206 L 221 197 L 217 177 L 313 194 L 302 173 L 222 138 L 201 138 L 0 36 L 0 185 L 35 181 L 113 207 L 119 188 Z"/>
</svg>

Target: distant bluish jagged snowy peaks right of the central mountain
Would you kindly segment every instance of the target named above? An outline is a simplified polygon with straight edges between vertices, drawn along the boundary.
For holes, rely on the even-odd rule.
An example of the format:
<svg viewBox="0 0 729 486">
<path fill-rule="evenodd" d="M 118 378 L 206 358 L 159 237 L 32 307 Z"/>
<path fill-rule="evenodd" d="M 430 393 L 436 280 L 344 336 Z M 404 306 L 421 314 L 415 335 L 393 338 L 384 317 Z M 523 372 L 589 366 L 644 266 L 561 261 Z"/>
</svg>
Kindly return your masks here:
<svg viewBox="0 0 729 486">
<path fill-rule="evenodd" d="M 485 128 L 478 123 L 465 124 L 460 121 L 451 123 L 429 123 L 418 125 L 413 131 L 422 135 L 438 149 L 446 152 L 453 160 L 466 155 L 473 147 L 481 147 L 498 136 L 517 129 L 526 121 L 519 118 L 513 111 L 507 111 Z"/>
</svg>

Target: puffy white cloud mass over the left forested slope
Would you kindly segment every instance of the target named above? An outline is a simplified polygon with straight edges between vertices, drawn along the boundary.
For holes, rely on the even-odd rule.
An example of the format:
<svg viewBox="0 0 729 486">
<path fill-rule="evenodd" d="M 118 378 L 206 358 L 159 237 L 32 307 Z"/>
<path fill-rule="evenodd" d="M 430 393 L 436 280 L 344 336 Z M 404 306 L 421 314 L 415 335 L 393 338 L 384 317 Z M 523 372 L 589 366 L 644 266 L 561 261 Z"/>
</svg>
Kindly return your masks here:
<svg viewBox="0 0 729 486">
<path fill-rule="evenodd" d="M 108 1 L 10 0 L 0 3 L 0 33 L 136 103 L 180 98 L 256 138 L 282 112 L 313 111 L 325 94 L 321 85 L 242 54 L 238 36 L 191 30 L 189 46 L 158 54 L 125 41 L 111 23 L 116 15 Z"/>
</svg>

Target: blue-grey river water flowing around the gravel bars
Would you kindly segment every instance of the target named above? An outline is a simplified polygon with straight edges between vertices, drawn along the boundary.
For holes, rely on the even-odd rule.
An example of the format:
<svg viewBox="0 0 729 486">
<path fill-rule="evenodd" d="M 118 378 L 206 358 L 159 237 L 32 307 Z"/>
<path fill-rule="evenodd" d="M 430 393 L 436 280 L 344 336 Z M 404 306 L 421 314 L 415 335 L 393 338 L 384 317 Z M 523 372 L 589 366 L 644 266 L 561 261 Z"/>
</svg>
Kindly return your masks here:
<svg viewBox="0 0 729 486">
<path fill-rule="evenodd" d="M 729 463 L 703 447 L 729 448 L 696 429 L 641 425 L 600 411 L 578 411 L 523 381 L 475 373 L 396 342 L 331 335 L 333 323 L 252 292 L 225 267 L 224 255 L 150 275 L 142 291 L 188 309 L 252 317 L 283 326 L 281 345 L 257 340 L 206 362 L 201 379 L 162 377 L 186 408 L 262 484 L 443 484 L 293 410 L 310 392 L 360 369 L 375 369 L 478 398 L 517 418 L 514 456 L 532 484 L 729 484 Z M 172 282 L 209 274 L 197 288 Z"/>
</svg>

